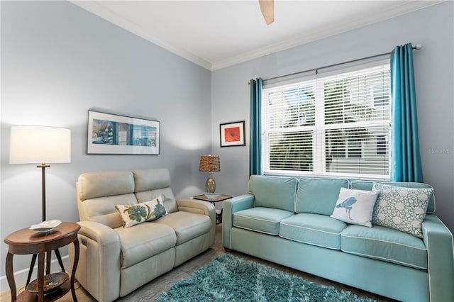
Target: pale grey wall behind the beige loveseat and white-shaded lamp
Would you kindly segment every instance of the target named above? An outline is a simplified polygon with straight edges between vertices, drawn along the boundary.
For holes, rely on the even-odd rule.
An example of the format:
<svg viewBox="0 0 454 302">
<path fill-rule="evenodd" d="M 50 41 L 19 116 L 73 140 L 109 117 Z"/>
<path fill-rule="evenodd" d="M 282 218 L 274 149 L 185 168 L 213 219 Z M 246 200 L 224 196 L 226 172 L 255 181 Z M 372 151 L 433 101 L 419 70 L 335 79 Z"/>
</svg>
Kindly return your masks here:
<svg viewBox="0 0 454 302">
<path fill-rule="evenodd" d="M 87 155 L 92 107 L 160 121 L 160 155 Z M 9 164 L 11 125 L 70 128 L 71 163 L 46 169 L 47 216 L 77 221 L 82 172 L 167 167 L 177 197 L 203 192 L 210 112 L 209 70 L 67 1 L 1 1 L 1 284 L 4 238 L 41 219 L 40 169 Z M 14 271 L 30 259 L 15 256 Z"/>
</svg>

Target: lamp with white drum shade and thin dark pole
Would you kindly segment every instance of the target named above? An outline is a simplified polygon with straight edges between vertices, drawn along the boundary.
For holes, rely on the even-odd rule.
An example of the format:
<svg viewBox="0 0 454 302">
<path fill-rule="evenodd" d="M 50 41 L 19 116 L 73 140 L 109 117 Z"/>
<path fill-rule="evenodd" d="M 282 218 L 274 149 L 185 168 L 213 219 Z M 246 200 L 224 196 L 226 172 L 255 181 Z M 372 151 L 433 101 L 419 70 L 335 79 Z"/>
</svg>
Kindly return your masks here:
<svg viewBox="0 0 454 302">
<path fill-rule="evenodd" d="M 38 164 L 43 190 L 45 221 L 45 168 L 52 163 L 71 162 L 71 130 L 40 125 L 11 126 L 10 164 Z"/>
</svg>

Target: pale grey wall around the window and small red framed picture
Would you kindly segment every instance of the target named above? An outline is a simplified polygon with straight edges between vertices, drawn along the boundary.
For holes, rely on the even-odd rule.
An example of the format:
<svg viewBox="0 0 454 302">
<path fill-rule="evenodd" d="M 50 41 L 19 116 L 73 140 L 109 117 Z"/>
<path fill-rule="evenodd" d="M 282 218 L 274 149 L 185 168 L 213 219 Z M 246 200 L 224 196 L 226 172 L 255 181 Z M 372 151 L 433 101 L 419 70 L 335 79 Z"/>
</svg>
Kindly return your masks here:
<svg viewBox="0 0 454 302">
<path fill-rule="evenodd" d="M 213 154 L 221 156 L 215 175 L 221 191 L 245 194 L 248 179 L 249 126 L 246 147 L 219 147 L 219 123 L 245 120 L 249 125 L 248 81 L 390 52 L 396 45 L 420 43 L 414 51 L 419 138 L 424 181 L 436 194 L 436 213 L 454 230 L 454 2 L 272 53 L 212 75 Z"/>
</svg>

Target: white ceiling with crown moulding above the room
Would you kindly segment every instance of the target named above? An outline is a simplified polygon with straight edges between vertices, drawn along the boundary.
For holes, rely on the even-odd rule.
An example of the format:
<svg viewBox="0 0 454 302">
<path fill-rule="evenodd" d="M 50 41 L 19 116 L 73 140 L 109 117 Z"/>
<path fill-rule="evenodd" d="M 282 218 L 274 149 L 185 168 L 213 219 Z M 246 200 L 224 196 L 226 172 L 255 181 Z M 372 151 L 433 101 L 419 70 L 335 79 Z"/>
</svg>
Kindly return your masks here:
<svg viewBox="0 0 454 302">
<path fill-rule="evenodd" d="M 267 26 L 258 0 L 72 1 L 210 70 L 440 2 L 275 0 L 275 22 Z"/>
</svg>

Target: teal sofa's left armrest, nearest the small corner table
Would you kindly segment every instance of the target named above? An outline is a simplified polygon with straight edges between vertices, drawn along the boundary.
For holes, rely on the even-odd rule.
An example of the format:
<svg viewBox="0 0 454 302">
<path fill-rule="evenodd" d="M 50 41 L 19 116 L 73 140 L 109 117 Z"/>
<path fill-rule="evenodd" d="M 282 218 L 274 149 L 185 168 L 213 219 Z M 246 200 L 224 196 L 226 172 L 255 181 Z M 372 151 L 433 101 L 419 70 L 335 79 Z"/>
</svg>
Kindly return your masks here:
<svg viewBox="0 0 454 302">
<path fill-rule="evenodd" d="M 245 194 L 223 201 L 222 211 L 222 244 L 224 247 L 231 248 L 231 230 L 233 228 L 233 213 L 252 208 L 254 206 L 254 196 Z"/>
</svg>

